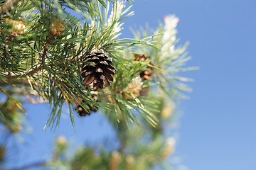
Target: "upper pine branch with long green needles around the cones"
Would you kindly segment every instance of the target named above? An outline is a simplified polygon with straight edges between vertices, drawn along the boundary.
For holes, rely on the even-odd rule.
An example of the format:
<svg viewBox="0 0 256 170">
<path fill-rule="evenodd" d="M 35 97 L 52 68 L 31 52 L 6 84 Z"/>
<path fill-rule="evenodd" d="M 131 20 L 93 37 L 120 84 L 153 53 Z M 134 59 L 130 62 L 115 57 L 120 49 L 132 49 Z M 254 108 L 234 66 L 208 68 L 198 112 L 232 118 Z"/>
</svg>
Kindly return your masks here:
<svg viewBox="0 0 256 170">
<path fill-rule="evenodd" d="M 80 14 L 73 16 L 65 7 Z M 119 39 L 122 21 L 133 15 L 129 9 L 121 1 L 114 1 L 111 12 L 109 1 L 21 1 L 1 22 L 1 81 L 21 86 L 24 83 L 49 101 L 53 108 L 46 127 L 58 125 L 65 104 L 70 108 L 73 125 L 73 106 L 79 105 L 85 110 L 89 106 L 100 107 L 107 116 L 115 113 L 112 118 L 117 124 L 120 115 L 124 123 L 137 122 L 139 113 L 156 126 L 158 120 L 142 101 L 140 91 L 152 88 L 157 93 L 166 91 L 171 97 L 181 96 L 179 91 L 189 91 L 180 82 L 185 79 L 175 74 L 184 70 L 190 57 L 186 57 L 186 45 L 175 48 L 175 24 L 171 28 L 160 26 L 153 31 L 155 35 L 143 31 L 141 38 Z M 175 17 L 169 20 L 177 21 Z M 82 25 L 80 21 L 86 22 Z M 103 61 L 95 56 L 97 63 L 95 59 L 87 60 L 97 50 L 110 59 Z M 144 55 L 148 60 L 135 61 L 134 55 Z M 100 66 L 107 61 L 112 70 Z M 92 70 L 97 67 L 97 72 L 105 71 L 95 79 L 88 66 Z M 141 80 L 134 87 L 137 90 L 129 88 L 138 76 Z M 92 81 L 97 81 L 94 89 L 90 86 Z M 98 91 L 102 99 L 94 101 L 90 91 L 98 86 L 102 88 Z"/>
</svg>

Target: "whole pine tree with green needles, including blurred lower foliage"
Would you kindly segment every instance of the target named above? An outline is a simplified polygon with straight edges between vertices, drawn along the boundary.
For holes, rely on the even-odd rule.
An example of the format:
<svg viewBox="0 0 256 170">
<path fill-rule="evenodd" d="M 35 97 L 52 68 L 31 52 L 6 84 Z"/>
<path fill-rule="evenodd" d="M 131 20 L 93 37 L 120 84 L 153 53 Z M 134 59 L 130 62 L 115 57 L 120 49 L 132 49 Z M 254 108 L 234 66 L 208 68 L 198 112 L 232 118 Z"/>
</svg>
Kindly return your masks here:
<svg viewBox="0 0 256 170">
<path fill-rule="evenodd" d="M 131 3 L 129 1 L 129 3 Z M 0 122 L 6 132 L 23 130 L 24 102 L 48 102 L 45 130 L 60 123 L 62 108 L 87 118 L 103 114 L 119 138 L 119 149 L 100 153 L 83 147 L 64 157 L 68 144 L 59 137 L 53 159 L 36 164 L 55 169 L 169 169 L 175 137 L 166 124 L 182 91 L 191 91 L 178 72 L 186 46 L 176 46 L 176 16 L 166 16 L 156 30 L 134 30 L 135 38 L 119 38 L 124 1 L 0 1 Z M 128 7 L 127 7 L 128 6 Z M 139 131 L 139 132 L 138 132 Z M 146 143 L 146 145 L 145 145 Z M 6 145 L 0 144 L 0 162 Z M 90 158 L 90 159 L 88 159 Z"/>
</svg>

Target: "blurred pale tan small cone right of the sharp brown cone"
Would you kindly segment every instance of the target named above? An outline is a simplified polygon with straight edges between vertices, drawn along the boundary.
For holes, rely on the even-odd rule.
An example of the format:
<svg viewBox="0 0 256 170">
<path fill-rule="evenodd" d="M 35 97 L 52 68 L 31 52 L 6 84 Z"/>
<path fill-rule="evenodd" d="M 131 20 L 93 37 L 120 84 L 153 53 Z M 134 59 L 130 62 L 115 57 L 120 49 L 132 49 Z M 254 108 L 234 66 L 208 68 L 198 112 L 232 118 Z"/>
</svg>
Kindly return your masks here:
<svg viewBox="0 0 256 170">
<path fill-rule="evenodd" d="M 130 94 L 133 94 L 135 97 L 138 97 L 140 92 L 142 91 L 142 78 L 140 77 L 135 77 L 134 79 L 132 79 L 132 81 L 128 84 L 128 86 L 123 90 L 123 91 L 127 91 Z M 128 99 L 132 99 L 133 97 L 127 93 L 123 93 L 124 98 Z"/>
</svg>

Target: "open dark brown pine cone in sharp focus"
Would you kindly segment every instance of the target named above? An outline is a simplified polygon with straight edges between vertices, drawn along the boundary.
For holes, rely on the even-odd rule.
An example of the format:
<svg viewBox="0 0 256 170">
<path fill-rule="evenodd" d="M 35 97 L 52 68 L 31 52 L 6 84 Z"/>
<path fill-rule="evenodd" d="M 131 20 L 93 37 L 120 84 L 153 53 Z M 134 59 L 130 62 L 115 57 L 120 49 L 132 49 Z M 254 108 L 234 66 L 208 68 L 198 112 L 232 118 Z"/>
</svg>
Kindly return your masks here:
<svg viewBox="0 0 256 170">
<path fill-rule="evenodd" d="M 82 77 L 85 79 L 83 83 L 85 86 L 93 83 L 93 90 L 97 91 L 104 88 L 104 82 L 110 86 L 110 81 L 113 81 L 111 74 L 114 74 L 115 68 L 112 67 L 112 59 L 108 57 L 103 50 L 96 50 L 85 57 L 85 62 L 92 62 L 92 64 L 83 64 Z"/>
</svg>

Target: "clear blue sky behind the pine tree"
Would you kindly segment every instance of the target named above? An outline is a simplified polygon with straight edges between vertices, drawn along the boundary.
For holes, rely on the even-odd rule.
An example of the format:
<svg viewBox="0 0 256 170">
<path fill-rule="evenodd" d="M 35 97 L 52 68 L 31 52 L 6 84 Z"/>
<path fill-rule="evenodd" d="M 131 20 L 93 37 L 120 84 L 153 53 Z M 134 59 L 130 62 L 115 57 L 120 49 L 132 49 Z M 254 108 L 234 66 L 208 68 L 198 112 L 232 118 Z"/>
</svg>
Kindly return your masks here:
<svg viewBox="0 0 256 170">
<path fill-rule="evenodd" d="M 181 101 L 183 112 L 178 133 L 181 135 L 176 155 L 191 170 L 256 169 L 256 1 L 255 0 L 135 0 L 135 16 L 124 21 L 124 37 L 131 37 L 129 27 L 156 28 L 166 14 L 180 18 L 178 38 L 190 42 L 189 66 L 199 66 L 187 77 L 190 100 Z M 114 137 L 101 115 L 76 120 L 73 132 L 68 114 L 60 128 L 43 132 L 50 109 L 47 105 L 28 108 L 28 123 L 33 134 L 18 152 L 19 164 L 50 157 L 53 138 L 66 135 L 71 142 L 95 142 Z M 15 153 L 10 154 L 14 155 Z"/>
</svg>

